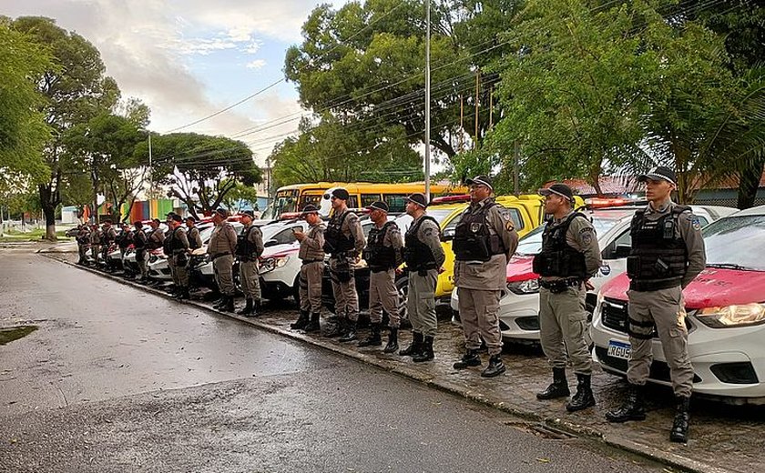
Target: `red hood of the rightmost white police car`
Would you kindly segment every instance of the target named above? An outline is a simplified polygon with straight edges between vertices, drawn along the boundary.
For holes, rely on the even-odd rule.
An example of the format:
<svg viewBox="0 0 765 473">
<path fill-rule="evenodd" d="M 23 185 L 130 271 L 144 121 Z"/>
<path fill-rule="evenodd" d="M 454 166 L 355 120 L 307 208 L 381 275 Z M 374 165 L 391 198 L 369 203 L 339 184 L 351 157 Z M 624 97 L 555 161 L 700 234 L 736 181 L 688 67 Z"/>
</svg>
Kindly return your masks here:
<svg viewBox="0 0 765 473">
<path fill-rule="evenodd" d="M 600 292 L 604 297 L 625 300 L 629 278 L 622 273 L 608 281 Z M 724 307 L 765 301 L 765 271 L 740 271 L 708 267 L 683 289 L 688 308 Z"/>
</svg>

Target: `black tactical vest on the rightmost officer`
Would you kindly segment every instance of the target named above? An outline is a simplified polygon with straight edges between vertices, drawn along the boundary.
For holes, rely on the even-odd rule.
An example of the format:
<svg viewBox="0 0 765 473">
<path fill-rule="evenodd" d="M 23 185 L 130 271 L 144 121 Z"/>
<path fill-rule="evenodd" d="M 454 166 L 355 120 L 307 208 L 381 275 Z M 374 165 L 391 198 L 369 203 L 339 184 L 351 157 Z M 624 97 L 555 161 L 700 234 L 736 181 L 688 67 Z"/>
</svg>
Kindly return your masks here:
<svg viewBox="0 0 765 473">
<path fill-rule="evenodd" d="M 646 218 L 645 209 L 635 212 L 629 226 L 632 237 L 632 250 L 627 257 L 630 289 L 655 291 L 682 282 L 688 270 L 688 250 L 676 230 L 680 214 L 688 210 L 688 206 L 673 206 L 656 220 Z"/>
</svg>

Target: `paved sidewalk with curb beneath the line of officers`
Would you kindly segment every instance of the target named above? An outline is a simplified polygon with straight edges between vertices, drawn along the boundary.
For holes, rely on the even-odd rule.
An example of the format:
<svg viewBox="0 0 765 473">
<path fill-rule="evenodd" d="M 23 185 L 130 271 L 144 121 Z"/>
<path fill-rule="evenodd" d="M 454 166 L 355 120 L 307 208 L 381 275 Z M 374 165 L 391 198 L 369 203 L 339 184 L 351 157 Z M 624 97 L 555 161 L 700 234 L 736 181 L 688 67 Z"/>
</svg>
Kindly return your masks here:
<svg viewBox="0 0 765 473">
<path fill-rule="evenodd" d="M 66 255 L 56 254 L 49 257 L 72 264 Z M 89 268 L 87 270 L 97 272 Z M 160 289 L 144 287 L 100 272 L 97 274 L 167 297 Z M 459 327 L 454 327 L 447 321 L 439 321 L 439 331 L 433 345 L 435 360 L 415 364 L 409 357 L 383 354 L 382 347 L 358 348 L 354 343 L 342 344 L 337 338 L 293 331 L 290 329 L 290 323 L 297 317 L 294 308 L 284 310 L 266 306 L 260 317 L 245 318 L 221 313 L 212 309 L 209 303 L 197 300 L 185 303 L 354 357 L 401 376 L 411 377 L 428 386 L 499 408 L 525 419 L 522 427 L 534 430 L 538 435 L 549 438 L 594 438 L 610 446 L 691 471 L 765 471 L 765 453 L 762 448 L 762 438 L 765 438 L 765 408 L 762 407 L 734 407 L 694 398 L 691 407 L 690 440 L 688 445 L 684 446 L 668 440 L 674 415 L 672 393 L 668 388 L 649 389 L 646 421 L 611 424 L 605 420 L 605 412 L 621 402 L 627 384 L 626 381 L 607 375 L 596 367 L 592 383 L 597 407 L 569 414 L 564 407 L 566 399 L 542 402 L 535 398 L 535 393 L 544 389 L 551 377 L 546 360 L 538 348 L 505 344 L 503 358 L 507 372 L 504 376 L 490 379 L 480 377 L 480 370 L 487 363 L 485 354 L 483 367 L 454 370 L 452 364 L 463 353 L 463 336 Z M 322 327 L 327 326 L 326 318 L 322 319 Z M 366 330 L 361 330 L 360 338 L 366 334 Z M 410 332 L 403 330 L 399 345 L 406 347 L 410 340 Z M 576 390 L 576 377 L 569 372 L 568 378 L 573 393 Z"/>
</svg>

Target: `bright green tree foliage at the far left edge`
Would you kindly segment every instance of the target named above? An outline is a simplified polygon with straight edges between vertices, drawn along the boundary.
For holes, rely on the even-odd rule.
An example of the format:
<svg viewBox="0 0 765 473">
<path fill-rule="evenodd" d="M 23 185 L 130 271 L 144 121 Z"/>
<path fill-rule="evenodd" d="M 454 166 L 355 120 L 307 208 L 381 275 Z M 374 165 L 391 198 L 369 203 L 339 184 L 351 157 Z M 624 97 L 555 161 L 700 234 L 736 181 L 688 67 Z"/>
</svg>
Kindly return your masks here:
<svg viewBox="0 0 765 473">
<path fill-rule="evenodd" d="M 33 77 L 55 69 L 50 52 L 29 36 L 12 30 L 0 17 L 0 174 L 21 173 L 33 182 L 49 172 L 42 158 L 50 138 L 45 97 Z"/>
</svg>

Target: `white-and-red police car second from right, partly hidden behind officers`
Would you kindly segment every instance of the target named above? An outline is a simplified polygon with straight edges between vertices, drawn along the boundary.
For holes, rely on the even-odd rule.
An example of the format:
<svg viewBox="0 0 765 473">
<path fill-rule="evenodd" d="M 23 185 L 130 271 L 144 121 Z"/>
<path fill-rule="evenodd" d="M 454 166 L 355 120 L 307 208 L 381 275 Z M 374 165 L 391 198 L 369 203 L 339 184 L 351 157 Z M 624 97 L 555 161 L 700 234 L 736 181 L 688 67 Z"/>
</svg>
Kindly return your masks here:
<svg viewBox="0 0 765 473">
<path fill-rule="evenodd" d="M 635 211 L 643 206 L 610 206 L 582 210 L 595 226 L 603 266 L 596 277 L 590 279 L 595 287 L 587 293 L 587 310 L 595 307 L 597 290 L 608 280 L 627 269 L 626 258 L 631 248 L 629 223 Z M 702 226 L 730 215 L 737 210 L 721 206 L 693 206 Z M 507 290 L 499 301 L 499 320 L 502 335 L 517 342 L 539 341 L 539 275 L 532 269 L 534 256 L 542 249 L 545 226 L 535 228 L 518 242 L 515 255 L 507 265 Z M 452 293 L 451 303 L 455 317 L 459 317 L 459 294 Z"/>
</svg>

